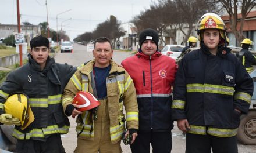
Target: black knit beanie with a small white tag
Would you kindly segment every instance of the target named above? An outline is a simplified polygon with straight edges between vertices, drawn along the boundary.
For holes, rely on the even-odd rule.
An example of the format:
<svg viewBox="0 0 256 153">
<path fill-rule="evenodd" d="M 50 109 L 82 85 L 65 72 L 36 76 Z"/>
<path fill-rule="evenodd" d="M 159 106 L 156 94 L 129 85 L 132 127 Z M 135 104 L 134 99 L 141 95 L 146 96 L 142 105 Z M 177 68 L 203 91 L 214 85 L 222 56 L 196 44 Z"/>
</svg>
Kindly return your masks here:
<svg viewBox="0 0 256 153">
<path fill-rule="evenodd" d="M 157 31 L 155 31 L 154 29 L 151 29 L 151 28 L 147 28 L 144 31 L 142 31 L 140 33 L 140 39 L 138 41 L 140 43 L 140 48 L 141 48 L 142 43 L 145 40 L 152 40 L 152 41 L 154 41 L 155 45 L 157 45 L 157 50 L 158 50 L 159 36 L 158 36 L 158 32 Z"/>
</svg>

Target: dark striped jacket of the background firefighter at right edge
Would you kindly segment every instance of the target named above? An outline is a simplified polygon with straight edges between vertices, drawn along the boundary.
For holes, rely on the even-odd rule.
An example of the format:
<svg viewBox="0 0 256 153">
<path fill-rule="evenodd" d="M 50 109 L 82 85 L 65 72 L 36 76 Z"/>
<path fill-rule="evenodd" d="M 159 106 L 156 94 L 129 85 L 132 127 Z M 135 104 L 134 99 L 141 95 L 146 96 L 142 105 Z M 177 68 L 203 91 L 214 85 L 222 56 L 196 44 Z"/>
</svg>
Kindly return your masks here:
<svg viewBox="0 0 256 153">
<path fill-rule="evenodd" d="M 242 49 L 239 52 L 239 61 L 243 63 L 247 72 L 250 74 L 253 71 L 252 63 L 256 63 L 256 58 L 248 49 Z"/>
</svg>

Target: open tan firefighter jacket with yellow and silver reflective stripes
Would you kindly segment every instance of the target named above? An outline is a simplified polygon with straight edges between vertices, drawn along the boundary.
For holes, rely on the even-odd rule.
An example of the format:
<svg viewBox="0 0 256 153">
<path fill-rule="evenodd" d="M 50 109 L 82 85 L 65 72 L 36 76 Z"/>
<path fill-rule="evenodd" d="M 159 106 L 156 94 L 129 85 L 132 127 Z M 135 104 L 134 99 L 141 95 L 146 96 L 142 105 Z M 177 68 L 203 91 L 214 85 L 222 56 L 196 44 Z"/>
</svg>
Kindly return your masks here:
<svg viewBox="0 0 256 153">
<path fill-rule="evenodd" d="M 73 97 L 79 91 L 86 91 L 97 97 L 95 89 L 95 80 L 93 66 L 95 60 L 89 61 L 84 66 L 78 68 L 65 88 L 62 103 L 66 107 L 72 104 Z M 127 129 L 138 129 L 138 105 L 136 100 L 136 91 L 133 80 L 130 75 L 111 60 L 111 70 L 106 77 L 108 111 L 110 120 L 111 143 L 115 144 L 122 139 L 122 133 L 125 131 L 125 115 L 123 114 L 123 105 L 125 105 Z M 76 131 L 81 139 L 93 139 L 94 120 L 91 110 L 84 111 L 81 114 L 83 123 L 77 118 Z"/>
</svg>

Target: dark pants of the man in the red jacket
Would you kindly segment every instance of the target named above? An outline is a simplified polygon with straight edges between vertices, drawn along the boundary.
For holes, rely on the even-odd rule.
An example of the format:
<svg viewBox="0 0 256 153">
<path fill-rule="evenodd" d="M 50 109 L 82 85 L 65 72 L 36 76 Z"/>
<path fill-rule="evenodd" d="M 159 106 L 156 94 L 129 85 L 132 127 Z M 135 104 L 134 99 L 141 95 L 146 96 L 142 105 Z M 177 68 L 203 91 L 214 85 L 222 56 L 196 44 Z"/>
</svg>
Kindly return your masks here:
<svg viewBox="0 0 256 153">
<path fill-rule="evenodd" d="M 172 132 L 138 132 L 130 145 L 133 153 L 150 153 L 150 143 L 154 153 L 170 153 L 172 150 Z"/>
</svg>

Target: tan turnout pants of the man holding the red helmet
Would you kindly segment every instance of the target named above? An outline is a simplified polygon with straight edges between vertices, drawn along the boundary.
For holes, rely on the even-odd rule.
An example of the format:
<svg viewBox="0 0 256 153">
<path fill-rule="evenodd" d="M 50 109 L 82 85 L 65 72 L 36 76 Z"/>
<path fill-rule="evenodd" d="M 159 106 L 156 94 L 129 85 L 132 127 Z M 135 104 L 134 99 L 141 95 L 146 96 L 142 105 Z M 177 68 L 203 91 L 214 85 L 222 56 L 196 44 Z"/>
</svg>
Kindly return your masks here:
<svg viewBox="0 0 256 153">
<path fill-rule="evenodd" d="M 120 153 L 121 141 L 116 144 L 111 144 L 110 139 L 110 121 L 108 114 L 107 100 L 99 100 L 97 110 L 97 119 L 94 121 L 94 138 L 91 139 L 77 139 L 76 153 Z"/>
</svg>

